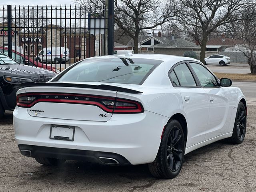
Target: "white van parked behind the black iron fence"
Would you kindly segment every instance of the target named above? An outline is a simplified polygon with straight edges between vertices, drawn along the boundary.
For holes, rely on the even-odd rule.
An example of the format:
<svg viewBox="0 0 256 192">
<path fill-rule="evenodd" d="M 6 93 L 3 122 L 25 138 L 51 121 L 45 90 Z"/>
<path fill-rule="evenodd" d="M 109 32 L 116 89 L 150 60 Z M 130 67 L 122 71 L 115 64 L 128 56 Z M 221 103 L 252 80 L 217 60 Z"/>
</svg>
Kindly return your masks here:
<svg viewBox="0 0 256 192">
<path fill-rule="evenodd" d="M 69 61 L 69 50 L 65 47 L 48 47 L 43 48 L 42 51 L 38 53 L 35 60 L 38 62 L 54 62 L 54 63 L 66 63 Z"/>
</svg>

